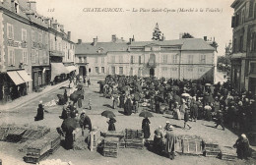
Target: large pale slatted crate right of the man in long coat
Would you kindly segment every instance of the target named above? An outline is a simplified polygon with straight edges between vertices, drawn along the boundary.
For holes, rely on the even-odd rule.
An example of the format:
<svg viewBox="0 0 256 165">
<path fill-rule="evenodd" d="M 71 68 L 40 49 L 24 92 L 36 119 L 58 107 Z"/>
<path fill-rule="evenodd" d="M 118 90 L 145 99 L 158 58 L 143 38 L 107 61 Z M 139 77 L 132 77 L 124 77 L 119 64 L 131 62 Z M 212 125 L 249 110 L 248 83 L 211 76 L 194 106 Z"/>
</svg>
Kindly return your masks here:
<svg viewBox="0 0 256 165">
<path fill-rule="evenodd" d="M 202 140 L 200 139 L 181 139 L 182 153 L 186 154 L 203 154 Z"/>
</svg>

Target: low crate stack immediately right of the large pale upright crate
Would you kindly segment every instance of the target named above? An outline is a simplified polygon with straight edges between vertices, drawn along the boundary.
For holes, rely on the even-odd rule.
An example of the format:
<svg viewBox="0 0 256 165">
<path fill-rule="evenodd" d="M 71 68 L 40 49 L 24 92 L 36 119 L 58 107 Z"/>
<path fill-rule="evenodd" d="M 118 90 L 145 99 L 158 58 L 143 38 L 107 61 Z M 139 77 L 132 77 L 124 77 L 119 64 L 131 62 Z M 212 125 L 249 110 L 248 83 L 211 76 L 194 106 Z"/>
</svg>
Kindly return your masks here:
<svg viewBox="0 0 256 165">
<path fill-rule="evenodd" d="M 221 154 L 218 142 L 204 142 L 204 145 L 204 155 L 206 157 L 218 157 Z"/>
</svg>

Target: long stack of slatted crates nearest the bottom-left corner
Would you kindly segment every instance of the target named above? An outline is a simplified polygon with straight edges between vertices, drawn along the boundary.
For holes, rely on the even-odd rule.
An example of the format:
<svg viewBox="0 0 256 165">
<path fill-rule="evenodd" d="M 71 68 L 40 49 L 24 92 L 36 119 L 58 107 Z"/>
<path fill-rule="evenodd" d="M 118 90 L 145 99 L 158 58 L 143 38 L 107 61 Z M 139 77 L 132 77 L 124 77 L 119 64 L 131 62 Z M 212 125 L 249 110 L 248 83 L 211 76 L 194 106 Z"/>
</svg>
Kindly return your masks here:
<svg viewBox="0 0 256 165">
<path fill-rule="evenodd" d="M 34 140 L 27 148 L 27 154 L 24 157 L 26 163 L 39 163 L 40 160 L 49 156 L 51 141 L 48 138 Z"/>
</svg>

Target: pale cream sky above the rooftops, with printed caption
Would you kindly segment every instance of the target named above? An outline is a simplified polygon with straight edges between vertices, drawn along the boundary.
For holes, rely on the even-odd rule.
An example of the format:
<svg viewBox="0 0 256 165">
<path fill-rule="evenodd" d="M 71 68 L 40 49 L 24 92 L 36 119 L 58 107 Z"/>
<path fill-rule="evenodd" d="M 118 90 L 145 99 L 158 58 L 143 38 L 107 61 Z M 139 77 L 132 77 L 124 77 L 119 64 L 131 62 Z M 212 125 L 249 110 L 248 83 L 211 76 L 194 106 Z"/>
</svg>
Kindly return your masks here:
<svg viewBox="0 0 256 165">
<path fill-rule="evenodd" d="M 151 40 L 157 23 L 166 40 L 178 39 L 180 32 L 189 32 L 196 38 L 215 37 L 218 55 L 224 55 L 225 44 L 232 38 L 233 0 L 35 1 L 38 14 L 64 25 L 74 42 L 93 42 L 96 36 L 98 41 L 107 42 L 112 34 L 127 41 L 133 35 L 136 41 Z M 94 8 L 119 9 L 97 12 Z"/>
</svg>

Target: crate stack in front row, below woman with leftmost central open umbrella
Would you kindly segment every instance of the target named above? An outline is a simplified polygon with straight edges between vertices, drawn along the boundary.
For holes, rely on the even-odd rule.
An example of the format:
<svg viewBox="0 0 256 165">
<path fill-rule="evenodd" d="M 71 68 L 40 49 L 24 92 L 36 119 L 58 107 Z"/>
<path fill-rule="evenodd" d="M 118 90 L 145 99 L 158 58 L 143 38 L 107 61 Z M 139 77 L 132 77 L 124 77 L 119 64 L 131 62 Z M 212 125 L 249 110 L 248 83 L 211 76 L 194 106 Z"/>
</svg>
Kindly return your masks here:
<svg viewBox="0 0 256 165">
<path fill-rule="evenodd" d="M 103 156 L 117 157 L 119 138 L 104 138 Z"/>
</svg>

